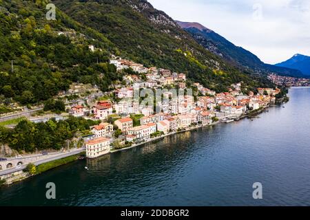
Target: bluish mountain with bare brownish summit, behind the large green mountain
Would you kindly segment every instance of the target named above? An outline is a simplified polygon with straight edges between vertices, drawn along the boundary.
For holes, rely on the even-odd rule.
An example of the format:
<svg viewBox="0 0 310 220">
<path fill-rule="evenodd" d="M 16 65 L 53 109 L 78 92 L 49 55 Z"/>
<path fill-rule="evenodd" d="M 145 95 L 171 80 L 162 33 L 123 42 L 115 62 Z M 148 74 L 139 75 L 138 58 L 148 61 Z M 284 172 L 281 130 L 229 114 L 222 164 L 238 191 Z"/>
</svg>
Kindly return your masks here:
<svg viewBox="0 0 310 220">
<path fill-rule="evenodd" d="M 256 55 L 242 47 L 234 45 L 233 43 L 227 41 L 227 39 L 223 36 L 220 36 L 216 32 L 205 28 L 199 23 L 182 21 L 176 21 L 176 23 L 178 23 L 180 28 L 183 28 L 189 32 L 189 34 L 191 34 L 193 38 L 200 43 L 200 45 L 203 45 L 203 47 L 210 52 L 223 57 L 225 61 L 228 61 L 233 65 L 245 67 L 252 72 L 261 72 L 265 74 L 276 72 L 277 74 L 289 76 L 301 75 L 301 72 L 296 69 L 276 67 L 263 63 Z"/>
</svg>

